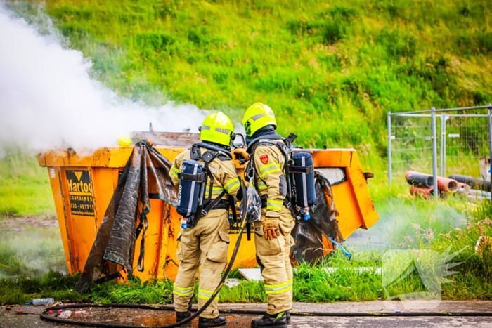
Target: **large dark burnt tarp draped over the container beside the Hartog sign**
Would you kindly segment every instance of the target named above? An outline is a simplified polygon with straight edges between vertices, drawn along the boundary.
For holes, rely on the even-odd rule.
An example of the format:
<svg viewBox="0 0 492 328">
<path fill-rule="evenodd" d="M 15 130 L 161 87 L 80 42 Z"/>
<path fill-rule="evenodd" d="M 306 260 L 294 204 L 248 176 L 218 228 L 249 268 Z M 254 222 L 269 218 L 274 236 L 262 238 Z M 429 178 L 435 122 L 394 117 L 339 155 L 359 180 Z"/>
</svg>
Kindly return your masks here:
<svg viewBox="0 0 492 328">
<path fill-rule="evenodd" d="M 86 291 L 93 282 L 108 281 L 126 269 L 133 274 L 136 238 L 145 235 L 150 199 L 176 206 L 177 192 L 169 180 L 171 162 L 148 143 L 137 143 L 106 209 L 96 240 L 87 258 L 76 291 Z M 143 271 L 145 238 L 141 240 L 138 270 Z"/>
</svg>

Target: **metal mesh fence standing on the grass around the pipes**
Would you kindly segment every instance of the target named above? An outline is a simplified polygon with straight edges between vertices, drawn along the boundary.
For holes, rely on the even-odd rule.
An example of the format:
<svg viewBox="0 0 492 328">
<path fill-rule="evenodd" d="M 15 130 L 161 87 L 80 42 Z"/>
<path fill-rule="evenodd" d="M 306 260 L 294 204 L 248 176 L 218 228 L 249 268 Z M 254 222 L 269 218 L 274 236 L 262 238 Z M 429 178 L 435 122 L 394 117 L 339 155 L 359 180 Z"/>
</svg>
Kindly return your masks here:
<svg viewBox="0 0 492 328">
<path fill-rule="evenodd" d="M 490 179 L 490 173 L 484 176 L 484 163 L 490 161 L 492 154 L 491 113 L 490 104 L 448 110 L 389 112 L 389 184 L 406 185 L 406 171 Z"/>
</svg>

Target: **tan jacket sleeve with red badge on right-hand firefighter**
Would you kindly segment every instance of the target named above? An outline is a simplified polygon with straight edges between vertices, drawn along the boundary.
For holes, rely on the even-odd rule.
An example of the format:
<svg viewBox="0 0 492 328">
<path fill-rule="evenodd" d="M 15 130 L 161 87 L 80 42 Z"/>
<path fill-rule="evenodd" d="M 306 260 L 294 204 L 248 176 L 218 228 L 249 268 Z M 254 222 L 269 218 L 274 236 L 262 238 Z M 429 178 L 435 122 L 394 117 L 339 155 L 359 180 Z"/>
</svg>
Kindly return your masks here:
<svg viewBox="0 0 492 328">
<path fill-rule="evenodd" d="M 260 145 L 254 152 L 254 164 L 257 169 L 258 183 L 266 184 L 268 199 L 266 203 L 266 216 L 268 218 L 280 218 L 285 195 L 280 193 L 280 180 L 283 178 L 283 157 L 276 146 Z M 283 178 L 285 181 L 285 178 Z"/>
</svg>

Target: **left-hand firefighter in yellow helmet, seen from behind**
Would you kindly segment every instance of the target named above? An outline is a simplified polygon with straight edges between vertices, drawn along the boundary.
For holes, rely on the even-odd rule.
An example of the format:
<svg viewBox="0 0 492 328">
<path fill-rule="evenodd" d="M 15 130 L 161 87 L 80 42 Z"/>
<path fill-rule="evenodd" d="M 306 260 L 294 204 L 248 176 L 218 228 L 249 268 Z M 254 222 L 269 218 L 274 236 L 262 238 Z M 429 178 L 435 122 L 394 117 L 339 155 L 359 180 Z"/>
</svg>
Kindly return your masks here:
<svg viewBox="0 0 492 328">
<path fill-rule="evenodd" d="M 207 151 L 219 152 L 217 157 L 209 162 L 208 167 L 214 177 L 214 182 L 212 190 L 209 188 L 210 180 L 205 183 L 205 198 L 208 199 L 209 194 L 212 193 L 212 200 L 226 194 L 242 199 L 242 188 L 240 188 L 240 180 L 235 172 L 235 164 L 232 161 L 229 147 L 235 137 L 231 119 L 221 112 L 209 114 L 199 130 L 202 142 L 195 143 L 192 148 L 174 159 L 169 172 L 173 185 L 176 188 L 179 186 L 181 164 L 188 159 L 193 159 L 196 150 L 200 149 L 201 155 Z M 181 188 L 180 192 L 183 192 Z M 177 260 L 181 262 L 173 291 L 176 322 L 191 315 L 191 300 L 200 265 L 202 269 L 198 289 L 199 308 L 210 299 L 219 285 L 221 273 L 226 266 L 229 247 L 228 202 L 226 199 L 227 197 L 221 199 L 206 216 L 200 218 L 193 228 L 181 228 L 177 238 L 179 248 L 176 254 Z M 217 310 L 218 299 L 219 296 L 200 315 L 198 327 L 217 327 L 226 324 L 226 318 L 219 316 L 219 310 Z"/>
</svg>

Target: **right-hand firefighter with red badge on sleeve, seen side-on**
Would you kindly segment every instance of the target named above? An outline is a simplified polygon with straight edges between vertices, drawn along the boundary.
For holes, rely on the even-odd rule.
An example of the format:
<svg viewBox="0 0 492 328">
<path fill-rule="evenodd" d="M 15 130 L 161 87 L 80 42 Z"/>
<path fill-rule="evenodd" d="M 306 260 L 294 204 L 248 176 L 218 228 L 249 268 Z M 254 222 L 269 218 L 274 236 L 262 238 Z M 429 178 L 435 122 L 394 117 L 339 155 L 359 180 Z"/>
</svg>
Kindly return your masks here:
<svg viewBox="0 0 492 328">
<path fill-rule="evenodd" d="M 285 206 L 287 180 L 284 176 L 287 146 L 276 133 L 276 119 L 267 105 L 254 103 L 242 119 L 246 130 L 247 149 L 233 152 L 248 158 L 246 171 L 254 169 L 255 185 L 262 201 L 261 219 L 253 223 L 257 261 L 264 278 L 267 314 L 253 320 L 251 327 L 287 327 L 292 309 L 292 266 L 289 253 L 294 216 Z M 251 167 L 252 166 L 252 167 Z M 245 174 L 246 177 L 246 174 Z"/>
</svg>

